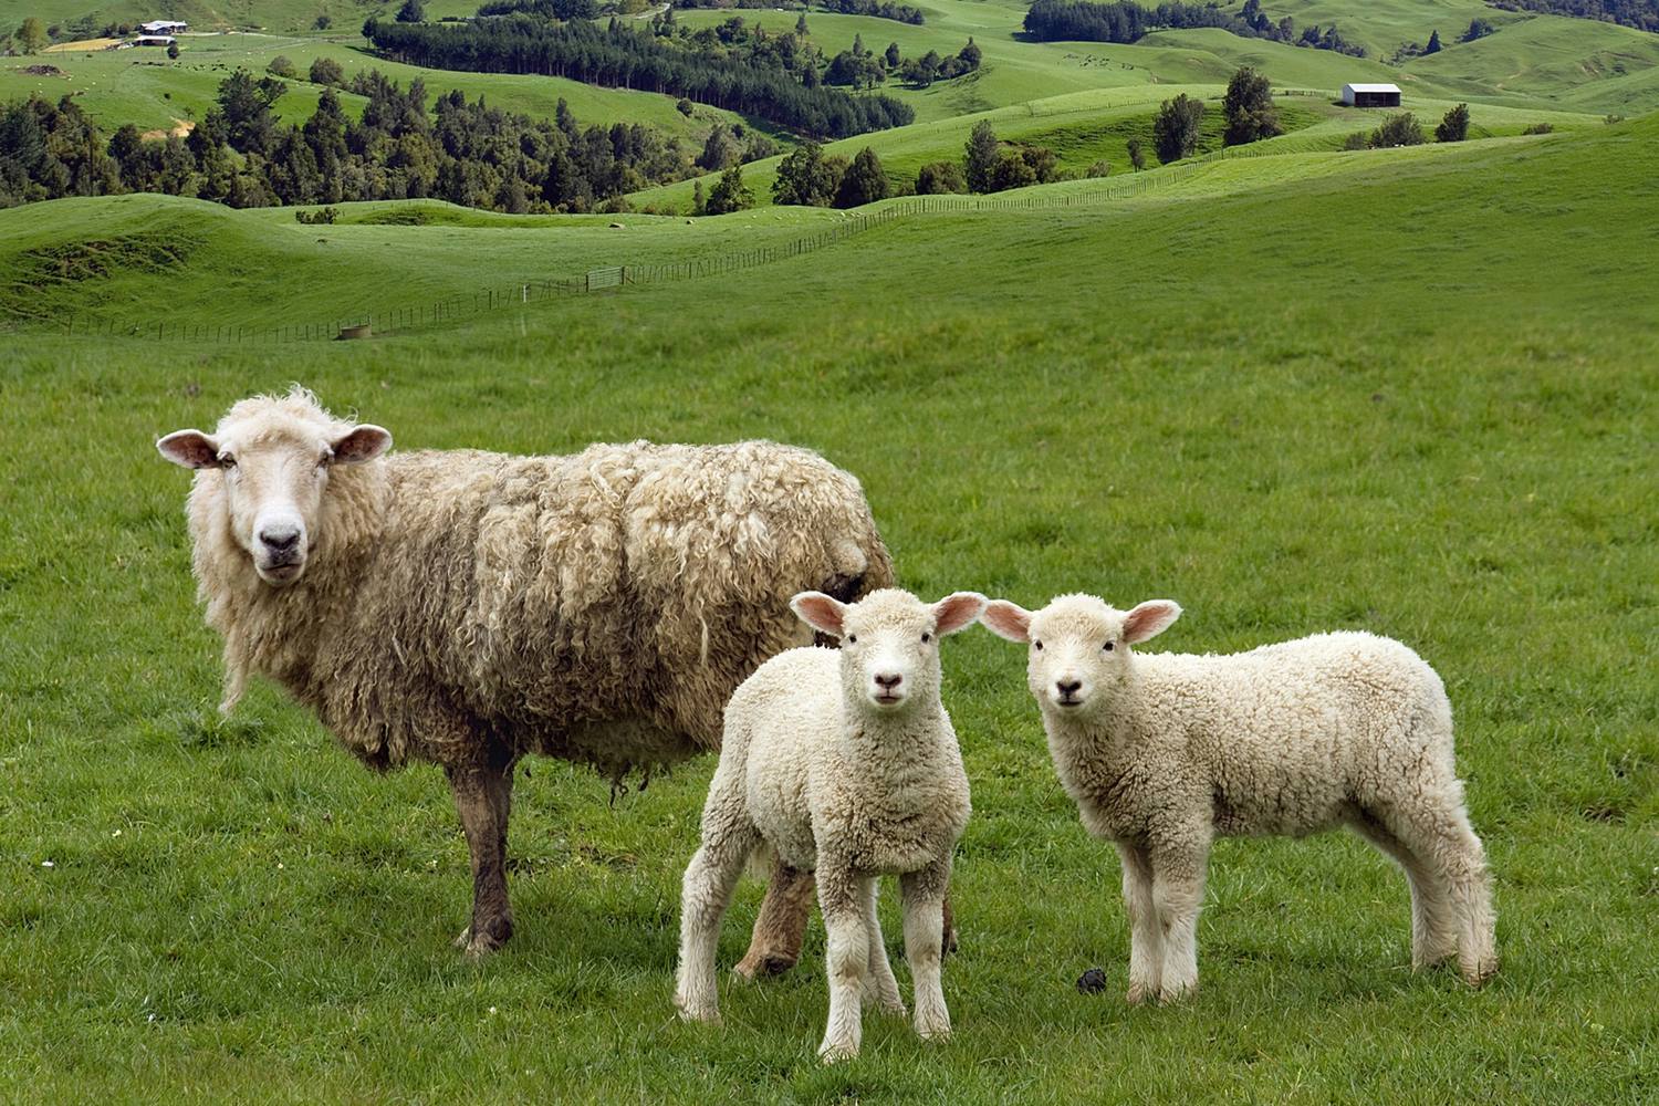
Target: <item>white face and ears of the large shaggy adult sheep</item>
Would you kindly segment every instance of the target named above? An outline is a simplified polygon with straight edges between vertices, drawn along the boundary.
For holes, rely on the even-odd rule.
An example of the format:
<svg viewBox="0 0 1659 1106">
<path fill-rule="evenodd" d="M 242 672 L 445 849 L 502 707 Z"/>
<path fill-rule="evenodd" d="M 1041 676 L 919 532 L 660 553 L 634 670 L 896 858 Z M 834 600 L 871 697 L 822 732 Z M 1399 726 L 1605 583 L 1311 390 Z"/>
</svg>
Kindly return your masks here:
<svg viewBox="0 0 1659 1106">
<path fill-rule="evenodd" d="M 390 446 L 385 429 L 335 420 L 304 388 L 242 400 L 211 434 L 178 429 L 156 443 L 174 464 L 201 469 L 197 481 L 219 481 L 231 536 L 272 587 L 305 572 L 330 469 L 373 461 Z"/>
</svg>

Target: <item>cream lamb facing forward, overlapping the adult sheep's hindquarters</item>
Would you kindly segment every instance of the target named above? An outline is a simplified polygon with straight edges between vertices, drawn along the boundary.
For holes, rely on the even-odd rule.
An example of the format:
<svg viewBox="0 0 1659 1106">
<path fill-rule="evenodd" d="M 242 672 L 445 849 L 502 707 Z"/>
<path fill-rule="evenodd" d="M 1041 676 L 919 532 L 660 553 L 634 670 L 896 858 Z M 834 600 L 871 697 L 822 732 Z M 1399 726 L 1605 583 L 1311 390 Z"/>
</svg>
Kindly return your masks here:
<svg viewBox="0 0 1659 1106">
<path fill-rule="evenodd" d="M 752 852 L 816 869 L 828 930 L 830 1021 L 818 1055 L 858 1055 L 868 992 L 902 1015 L 876 922 L 876 877 L 898 874 L 916 1031 L 947 1036 L 939 987 L 941 912 L 951 854 L 967 824 L 967 774 L 939 701 L 939 638 L 972 625 L 984 595 L 927 605 L 879 590 L 844 605 L 806 592 L 791 602 L 839 650 L 773 657 L 727 705 L 720 766 L 703 806 L 702 847 L 685 869 L 674 1002 L 718 1021 L 715 945 L 732 887 Z"/>
</svg>

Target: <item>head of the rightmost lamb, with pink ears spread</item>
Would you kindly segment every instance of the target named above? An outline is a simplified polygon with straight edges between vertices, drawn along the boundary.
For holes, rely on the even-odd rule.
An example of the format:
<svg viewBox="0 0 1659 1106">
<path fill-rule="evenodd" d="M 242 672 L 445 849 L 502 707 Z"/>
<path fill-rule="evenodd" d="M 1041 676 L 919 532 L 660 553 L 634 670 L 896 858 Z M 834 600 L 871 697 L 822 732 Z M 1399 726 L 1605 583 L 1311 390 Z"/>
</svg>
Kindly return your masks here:
<svg viewBox="0 0 1659 1106">
<path fill-rule="evenodd" d="M 1093 595 L 1060 595 L 1042 610 L 997 599 L 980 620 L 997 637 L 1029 647 L 1025 682 L 1039 706 L 1087 715 L 1123 683 L 1130 645 L 1163 633 L 1180 617 L 1168 599 L 1118 610 Z"/>
</svg>

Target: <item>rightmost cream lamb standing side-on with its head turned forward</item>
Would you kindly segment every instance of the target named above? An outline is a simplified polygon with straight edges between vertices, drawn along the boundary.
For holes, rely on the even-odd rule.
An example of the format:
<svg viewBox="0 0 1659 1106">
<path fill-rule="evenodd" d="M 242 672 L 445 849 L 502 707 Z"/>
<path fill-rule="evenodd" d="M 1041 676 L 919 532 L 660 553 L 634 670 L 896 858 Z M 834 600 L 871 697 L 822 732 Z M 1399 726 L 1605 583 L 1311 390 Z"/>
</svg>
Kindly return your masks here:
<svg viewBox="0 0 1659 1106">
<path fill-rule="evenodd" d="M 1452 706 L 1417 653 L 1321 633 L 1248 653 L 1136 655 L 1180 617 L 1062 595 L 995 600 L 984 622 L 1030 643 L 1029 685 L 1083 826 L 1123 861 L 1130 1002 L 1198 985 L 1198 909 L 1216 834 L 1302 836 L 1345 824 L 1412 889 L 1412 963 L 1457 953 L 1470 983 L 1498 967 L 1486 856 L 1463 811 Z"/>
</svg>

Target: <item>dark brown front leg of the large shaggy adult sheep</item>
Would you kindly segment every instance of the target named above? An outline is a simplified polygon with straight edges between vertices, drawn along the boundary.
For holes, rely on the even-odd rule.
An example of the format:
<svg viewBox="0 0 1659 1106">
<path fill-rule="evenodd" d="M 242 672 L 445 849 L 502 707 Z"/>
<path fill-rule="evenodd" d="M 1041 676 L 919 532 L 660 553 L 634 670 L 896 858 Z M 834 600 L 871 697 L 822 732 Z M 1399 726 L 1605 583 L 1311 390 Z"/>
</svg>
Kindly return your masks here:
<svg viewBox="0 0 1659 1106">
<path fill-rule="evenodd" d="M 473 862 L 473 922 L 455 939 L 468 957 L 479 958 L 513 937 L 513 905 L 508 902 L 508 816 L 513 811 L 513 766 L 516 758 L 503 748 L 484 749 L 469 764 L 446 768 L 455 809 L 466 831 Z"/>
</svg>

